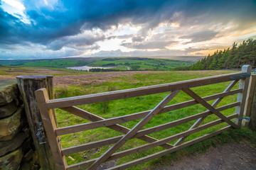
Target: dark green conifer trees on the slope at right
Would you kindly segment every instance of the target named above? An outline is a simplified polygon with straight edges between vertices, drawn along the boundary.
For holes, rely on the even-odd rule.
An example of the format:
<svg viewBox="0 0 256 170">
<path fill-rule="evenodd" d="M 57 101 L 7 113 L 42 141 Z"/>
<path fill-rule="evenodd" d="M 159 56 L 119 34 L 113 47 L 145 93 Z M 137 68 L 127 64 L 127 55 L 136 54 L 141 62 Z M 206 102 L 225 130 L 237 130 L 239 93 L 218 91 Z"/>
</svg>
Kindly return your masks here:
<svg viewBox="0 0 256 170">
<path fill-rule="evenodd" d="M 244 64 L 256 67 L 256 40 L 252 38 L 244 40 L 240 45 L 234 42 L 233 47 L 217 50 L 213 55 L 208 55 L 186 69 L 240 69 Z"/>
</svg>

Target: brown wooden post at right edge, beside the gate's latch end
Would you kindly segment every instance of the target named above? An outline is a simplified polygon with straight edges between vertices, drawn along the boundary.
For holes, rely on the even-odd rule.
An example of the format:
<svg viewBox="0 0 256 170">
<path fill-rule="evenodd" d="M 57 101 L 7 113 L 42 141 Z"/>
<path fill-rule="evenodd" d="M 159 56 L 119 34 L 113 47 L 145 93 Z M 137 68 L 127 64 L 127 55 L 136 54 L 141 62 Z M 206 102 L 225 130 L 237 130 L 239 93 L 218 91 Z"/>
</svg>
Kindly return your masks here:
<svg viewBox="0 0 256 170">
<path fill-rule="evenodd" d="M 247 104 L 247 115 L 248 117 L 250 117 L 250 123 L 249 126 L 256 130 L 256 74 L 252 75 L 252 79 L 251 79 L 251 83 L 250 83 L 250 95 L 251 95 L 251 100 L 248 100 L 248 104 Z M 249 107 L 250 106 L 250 107 Z"/>
</svg>

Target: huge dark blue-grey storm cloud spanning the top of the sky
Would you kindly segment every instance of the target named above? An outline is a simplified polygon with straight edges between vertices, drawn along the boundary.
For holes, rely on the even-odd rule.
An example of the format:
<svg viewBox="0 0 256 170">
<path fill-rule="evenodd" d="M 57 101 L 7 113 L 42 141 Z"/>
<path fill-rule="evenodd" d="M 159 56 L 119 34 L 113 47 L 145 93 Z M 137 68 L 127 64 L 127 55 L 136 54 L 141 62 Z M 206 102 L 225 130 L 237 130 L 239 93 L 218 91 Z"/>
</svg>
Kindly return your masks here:
<svg viewBox="0 0 256 170">
<path fill-rule="evenodd" d="M 211 22 L 228 23 L 234 21 L 238 29 L 255 26 L 255 1 L 175 1 L 175 0 L 77 0 L 58 1 L 53 6 L 39 6 L 38 1 L 24 1 L 26 15 L 31 23 L 23 23 L 19 18 L 3 11 L 0 6 L 0 45 L 19 45 L 25 42 L 45 45 L 49 49 L 59 50 L 62 47 L 97 47 L 95 42 L 104 38 L 76 39 L 75 35 L 85 30 L 100 28 L 102 31 L 120 23 L 144 24 L 133 42 L 124 46 L 144 49 L 164 49 L 166 42 L 144 42 L 150 30 L 159 23 L 178 22 L 181 27 L 206 25 Z M 190 38 L 193 42 L 210 40 L 217 32 L 206 30 L 193 33 L 182 38 Z M 139 43 L 140 42 L 140 43 Z M 144 43 L 143 43 L 144 42 Z M 86 48 L 86 47 L 85 47 Z"/>
</svg>

